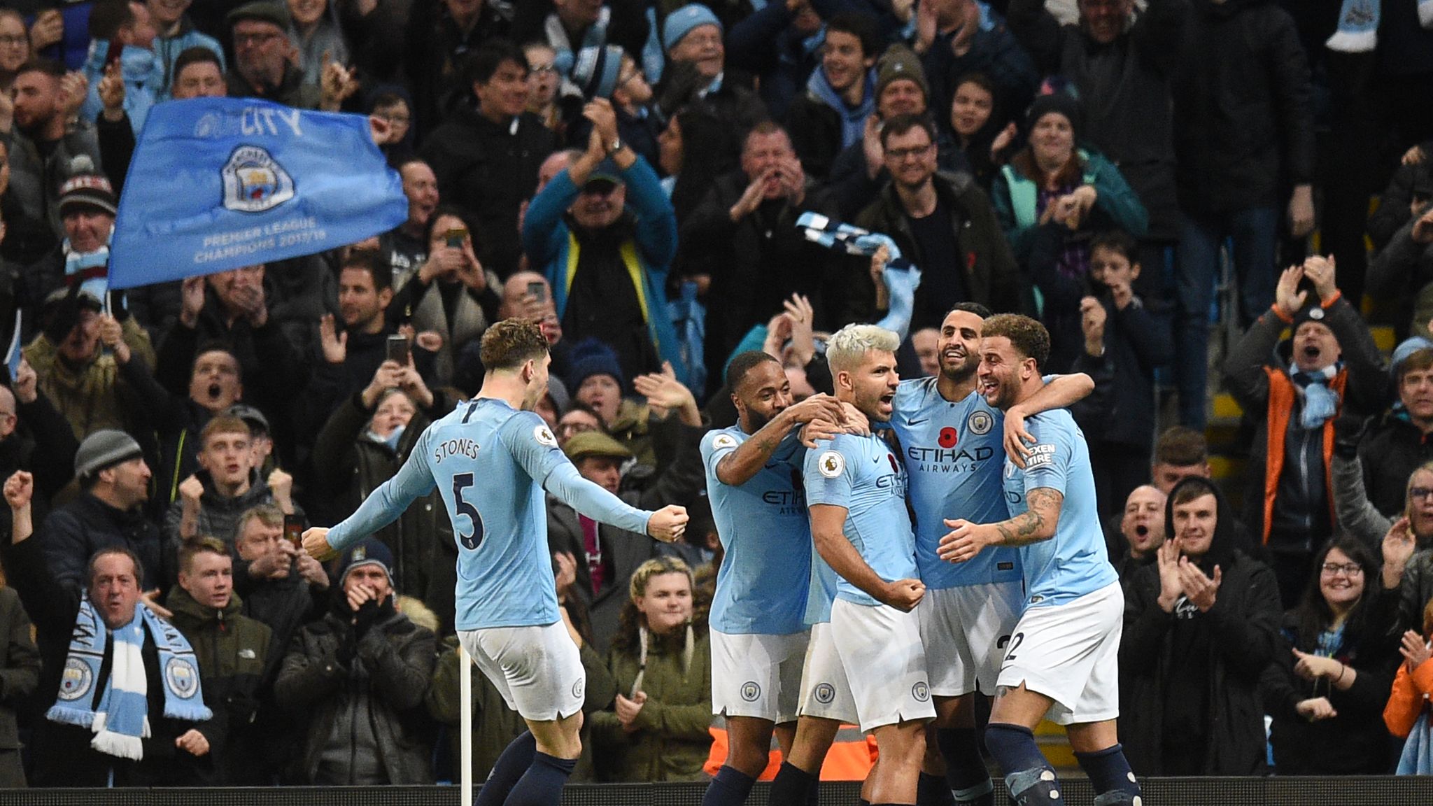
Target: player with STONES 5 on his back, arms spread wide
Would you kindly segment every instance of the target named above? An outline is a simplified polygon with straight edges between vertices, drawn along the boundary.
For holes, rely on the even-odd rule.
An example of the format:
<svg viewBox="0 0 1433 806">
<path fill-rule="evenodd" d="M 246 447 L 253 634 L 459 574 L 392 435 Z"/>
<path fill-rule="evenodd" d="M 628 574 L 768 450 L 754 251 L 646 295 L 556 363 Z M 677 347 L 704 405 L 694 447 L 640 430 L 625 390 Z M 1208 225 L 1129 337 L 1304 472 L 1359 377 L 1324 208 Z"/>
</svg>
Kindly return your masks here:
<svg viewBox="0 0 1433 806">
<path fill-rule="evenodd" d="M 459 640 L 529 727 L 499 757 L 474 803 L 556 806 L 582 752 L 586 677 L 557 614 L 543 489 L 595 521 L 661 541 L 681 536 L 686 511 L 633 509 L 577 475 L 532 412 L 552 363 L 536 324 L 500 321 L 483 334 L 480 350 L 487 374 L 477 397 L 428 426 L 398 473 L 344 522 L 304 532 L 304 548 L 318 559 L 332 556 L 438 486 L 461 546 Z"/>
</svg>

